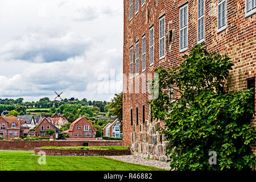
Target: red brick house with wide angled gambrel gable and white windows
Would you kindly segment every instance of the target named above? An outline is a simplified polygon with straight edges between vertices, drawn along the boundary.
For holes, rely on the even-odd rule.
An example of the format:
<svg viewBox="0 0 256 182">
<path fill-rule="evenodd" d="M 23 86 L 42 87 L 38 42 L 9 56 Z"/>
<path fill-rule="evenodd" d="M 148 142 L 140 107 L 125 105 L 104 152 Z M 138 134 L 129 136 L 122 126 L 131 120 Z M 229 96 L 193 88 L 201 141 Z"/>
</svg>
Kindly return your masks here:
<svg viewBox="0 0 256 182">
<path fill-rule="evenodd" d="M 68 135 L 69 139 L 94 139 L 96 138 L 96 129 L 92 123 L 81 117 L 71 123 Z"/>
</svg>

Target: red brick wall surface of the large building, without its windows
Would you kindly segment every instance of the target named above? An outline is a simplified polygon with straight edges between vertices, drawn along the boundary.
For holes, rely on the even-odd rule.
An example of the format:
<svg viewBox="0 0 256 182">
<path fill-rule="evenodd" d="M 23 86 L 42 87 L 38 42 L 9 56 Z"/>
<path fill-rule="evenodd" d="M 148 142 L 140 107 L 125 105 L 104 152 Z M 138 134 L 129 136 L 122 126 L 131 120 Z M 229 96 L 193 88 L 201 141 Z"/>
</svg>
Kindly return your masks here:
<svg viewBox="0 0 256 182">
<path fill-rule="evenodd" d="M 142 105 L 145 105 L 146 122 L 150 122 L 150 106 L 148 93 L 134 93 L 142 89 L 142 81 L 135 84 L 135 42 L 139 40 L 139 74 L 142 73 L 142 36 L 146 38 L 146 71 L 154 73 L 155 68 L 177 67 L 183 60 L 182 56 L 188 54 L 197 44 L 197 0 L 146 0 L 139 12 L 135 15 L 135 0 L 133 0 L 133 19 L 129 20 L 129 1 L 124 3 L 124 35 L 123 35 L 123 145 L 130 146 L 131 126 L 130 110 L 133 109 L 133 123 L 136 125 L 136 107 L 139 109 L 139 123 L 142 123 Z M 188 51 L 179 51 L 179 6 L 188 2 Z M 217 0 L 205 0 L 205 43 L 208 51 L 226 54 L 234 63 L 233 71 L 227 80 L 225 88 L 229 91 L 245 90 L 246 79 L 256 75 L 256 14 L 245 18 L 245 0 L 228 0 L 227 2 L 227 27 L 226 30 L 217 33 Z M 214 5 L 214 6 L 213 6 Z M 213 9 L 212 7 L 216 7 Z M 147 18 L 147 8 L 149 18 Z M 165 14 L 165 34 L 168 30 L 168 22 L 172 20 L 176 38 L 172 43 L 171 52 L 165 47 L 166 56 L 159 60 L 159 17 Z M 150 27 L 154 25 L 154 65 L 150 67 Z M 130 73 L 130 47 L 133 46 L 133 72 L 132 79 L 127 78 Z M 126 77 L 127 76 L 127 77 Z M 132 82 L 133 81 L 133 82 Z M 137 86 L 135 88 L 135 86 Z M 139 88 L 140 86 L 140 88 Z M 130 89 L 130 90 L 129 90 Z M 131 92 L 133 91 L 133 92 Z M 255 99 L 256 101 L 256 99 Z M 256 104 L 255 104 L 256 108 Z M 251 120 L 256 126 L 255 117 Z M 143 125 L 144 131 L 145 125 Z M 137 138 L 139 137 L 139 125 L 136 125 Z"/>
</svg>

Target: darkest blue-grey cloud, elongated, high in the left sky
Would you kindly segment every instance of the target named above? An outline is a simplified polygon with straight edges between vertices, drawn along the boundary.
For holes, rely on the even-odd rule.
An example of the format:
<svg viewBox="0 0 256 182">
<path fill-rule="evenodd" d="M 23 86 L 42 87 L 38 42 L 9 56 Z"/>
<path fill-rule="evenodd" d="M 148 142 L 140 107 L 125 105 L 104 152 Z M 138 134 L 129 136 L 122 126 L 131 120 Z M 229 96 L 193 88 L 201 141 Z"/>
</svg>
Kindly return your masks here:
<svg viewBox="0 0 256 182">
<path fill-rule="evenodd" d="M 0 51 L 0 59 L 36 63 L 65 61 L 83 55 L 91 46 L 90 39 L 72 32 L 61 37 L 32 34 L 6 44 Z"/>
</svg>

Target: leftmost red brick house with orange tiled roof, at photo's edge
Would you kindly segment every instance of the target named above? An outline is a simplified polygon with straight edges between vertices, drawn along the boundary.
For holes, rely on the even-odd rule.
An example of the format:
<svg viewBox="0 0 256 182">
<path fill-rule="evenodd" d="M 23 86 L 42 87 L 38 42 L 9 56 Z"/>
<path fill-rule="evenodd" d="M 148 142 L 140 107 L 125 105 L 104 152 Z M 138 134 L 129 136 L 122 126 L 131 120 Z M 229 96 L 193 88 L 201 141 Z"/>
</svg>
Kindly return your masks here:
<svg viewBox="0 0 256 182">
<path fill-rule="evenodd" d="M 0 117 L 0 136 L 3 138 L 21 138 L 23 137 L 22 125 L 24 120 L 16 117 Z"/>
</svg>

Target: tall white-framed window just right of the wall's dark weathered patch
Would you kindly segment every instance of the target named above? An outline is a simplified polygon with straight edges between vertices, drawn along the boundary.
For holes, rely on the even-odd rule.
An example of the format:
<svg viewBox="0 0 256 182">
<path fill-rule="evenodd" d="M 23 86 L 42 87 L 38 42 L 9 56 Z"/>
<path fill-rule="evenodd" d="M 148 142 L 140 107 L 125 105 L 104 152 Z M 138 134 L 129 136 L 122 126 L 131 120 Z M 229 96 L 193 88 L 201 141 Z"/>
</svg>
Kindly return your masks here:
<svg viewBox="0 0 256 182">
<path fill-rule="evenodd" d="M 180 52 L 188 49 L 188 4 L 180 7 Z"/>
</svg>

